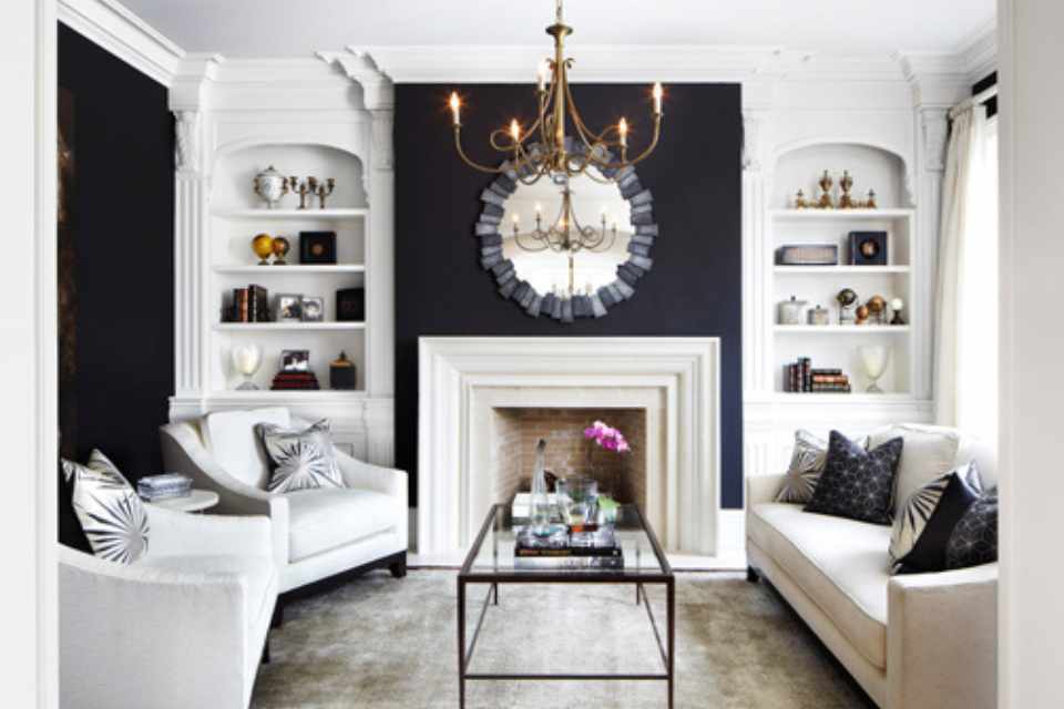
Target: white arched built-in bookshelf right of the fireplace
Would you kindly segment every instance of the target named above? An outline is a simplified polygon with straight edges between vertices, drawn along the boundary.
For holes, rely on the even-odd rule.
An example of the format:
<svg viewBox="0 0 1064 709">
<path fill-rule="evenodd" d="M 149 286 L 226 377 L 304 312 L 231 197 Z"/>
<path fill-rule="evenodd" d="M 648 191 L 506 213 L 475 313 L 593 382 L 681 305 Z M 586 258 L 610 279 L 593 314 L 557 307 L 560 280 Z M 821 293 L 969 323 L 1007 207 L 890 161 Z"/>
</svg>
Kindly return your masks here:
<svg viewBox="0 0 1064 709">
<path fill-rule="evenodd" d="M 817 179 L 828 169 L 836 181 L 833 196 L 838 198 L 838 178 L 843 169 L 853 176 L 855 197 L 863 199 L 869 188 L 877 192 L 879 207 L 874 209 L 797 209 L 794 194 L 800 187 L 807 198 L 819 195 Z M 766 236 L 768 259 L 763 274 L 767 280 L 765 322 L 769 323 L 770 354 L 765 358 L 773 395 L 780 401 L 809 393 L 786 391 L 786 367 L 798 358 L 808 357 L 817 369 L 840 369 L 849 376 L 852 393 L 816 394 L 818 400 L 846 400 L 853 403 L 911 399 L 914 397 L 915 368 L 921 367 L 914 348 L 920 332 L 919 318 L 923 310 L 918 301 L 914 274 L 923 265 L 915 248 L 918 238 L 917 210 L 904 203 L 904 166 L 896 156 L 861 145 L 809 146 L 780 157 L 775 171 L 773 205 L 767 210 Z M 879 266 L 853 265 L 850 261 L 851 232 L 886 232 L 888 263 Z M 782 246 L 831 244 L 838 247 L 839 261 L 835 266 L 789 266 L 777 263 Z M 863 304 L 872 296 L 904 301 L 902 318 L 906 325 L 841 325 L 837 295 L 850 288 Z M 779 304 L 795 297 L 806 301 L 801 325 L 781 325 Z M 829 311 L 829 325 L 810 325 L 808 310 L 817 306 Z M 859 347 L 883 345 L 890 348 L 890 361 L 879 387 L 886 394 L 866 394 L 870 380 L 864 373 Z M 812 401 L 802 399 L 804 401 Z"/>
</svg>

